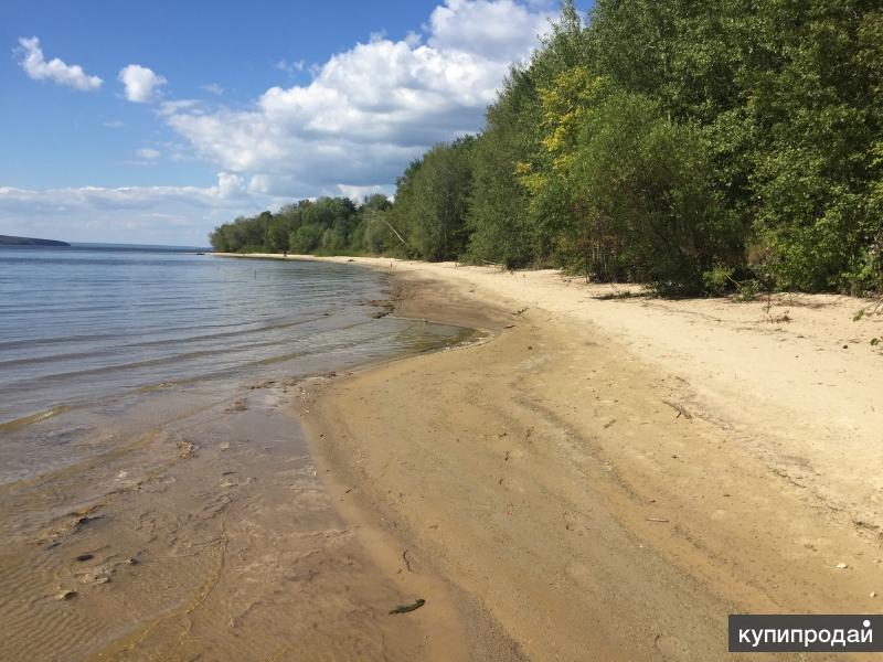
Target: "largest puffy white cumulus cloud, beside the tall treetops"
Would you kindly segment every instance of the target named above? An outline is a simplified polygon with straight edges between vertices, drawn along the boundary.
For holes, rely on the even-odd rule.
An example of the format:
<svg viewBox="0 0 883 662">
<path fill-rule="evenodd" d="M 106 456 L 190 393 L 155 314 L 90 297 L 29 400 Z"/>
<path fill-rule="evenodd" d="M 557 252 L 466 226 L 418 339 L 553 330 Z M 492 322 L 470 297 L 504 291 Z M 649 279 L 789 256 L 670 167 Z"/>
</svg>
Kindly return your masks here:
<svg viewBox="0 0 883 662">
<path fill-rule="evenodd" d="M 373 33 L 308 85 L 272 87 L 245 109 L 180 109 L 167 121 L 199 156 L 273 194 L 389 188 L 433 143 L 480 129 L 549 19 L 545 6 L 447 0 L 422 34 Z"/>
</svg>

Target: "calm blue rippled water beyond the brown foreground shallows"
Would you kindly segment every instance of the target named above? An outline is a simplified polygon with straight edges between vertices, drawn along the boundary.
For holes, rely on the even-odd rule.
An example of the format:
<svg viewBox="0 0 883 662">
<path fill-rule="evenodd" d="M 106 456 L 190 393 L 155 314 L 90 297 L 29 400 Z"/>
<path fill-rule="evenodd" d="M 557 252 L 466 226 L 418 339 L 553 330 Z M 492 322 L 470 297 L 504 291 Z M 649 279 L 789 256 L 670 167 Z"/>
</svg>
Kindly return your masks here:
<svg viewBox="0 0 883 662">
<path fill-rule="evenodd" d="M 0 248 L 0 425 L 170 385 L 334 370 L 459 333 L 373 319 L 365 301 L 385 287 L 349 265 Z"/>
</svg>

